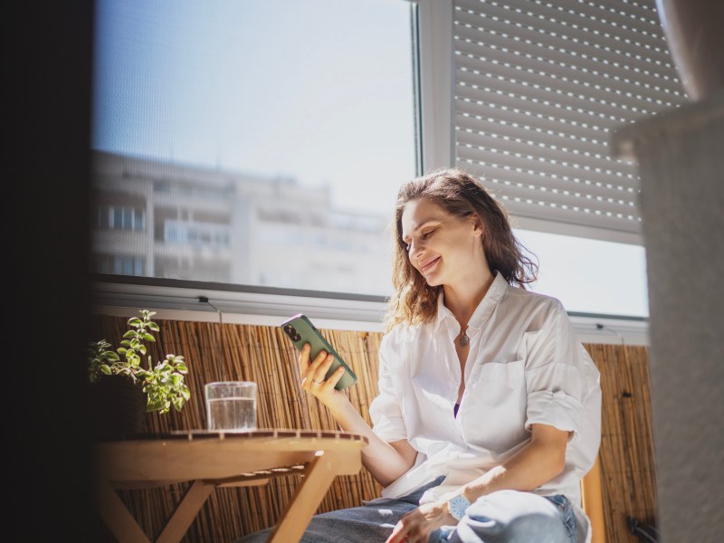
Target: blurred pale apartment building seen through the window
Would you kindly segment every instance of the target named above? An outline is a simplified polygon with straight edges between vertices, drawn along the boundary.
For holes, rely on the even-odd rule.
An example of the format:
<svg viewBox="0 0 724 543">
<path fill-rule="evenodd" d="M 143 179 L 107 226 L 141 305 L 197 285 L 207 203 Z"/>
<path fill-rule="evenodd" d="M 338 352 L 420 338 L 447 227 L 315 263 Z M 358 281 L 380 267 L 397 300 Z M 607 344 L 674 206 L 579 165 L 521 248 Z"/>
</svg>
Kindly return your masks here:
<svg viewBox="0 0 724 543">
<path fill-rule="evenodd" d="M 94 152 L 90 271 L 388 295 L 389 217 L 329 186 Z M 390 215 L 391 216 L 391 215 Z"/>
</svg>

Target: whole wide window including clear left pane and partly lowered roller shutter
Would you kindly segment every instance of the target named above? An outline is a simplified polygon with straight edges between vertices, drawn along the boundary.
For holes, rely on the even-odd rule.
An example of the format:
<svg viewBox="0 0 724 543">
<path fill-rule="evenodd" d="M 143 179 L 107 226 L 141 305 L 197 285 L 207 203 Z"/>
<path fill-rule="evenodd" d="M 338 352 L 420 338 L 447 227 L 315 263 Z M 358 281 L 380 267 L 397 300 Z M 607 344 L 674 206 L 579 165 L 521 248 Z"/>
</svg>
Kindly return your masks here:
<svg viewBox="0 0 724 543">
<path fill-rule="evenodd" d="M 99 222 L 94 249 L 148 278 L 381 305 L 397 187 L 458 164 L 538 255 L 533 290 L 645 317 L 636 168 L 608 135 L 684 100 L 654 4 L 101 0 L 96 195 L 142 227 Z"/>
</svg>

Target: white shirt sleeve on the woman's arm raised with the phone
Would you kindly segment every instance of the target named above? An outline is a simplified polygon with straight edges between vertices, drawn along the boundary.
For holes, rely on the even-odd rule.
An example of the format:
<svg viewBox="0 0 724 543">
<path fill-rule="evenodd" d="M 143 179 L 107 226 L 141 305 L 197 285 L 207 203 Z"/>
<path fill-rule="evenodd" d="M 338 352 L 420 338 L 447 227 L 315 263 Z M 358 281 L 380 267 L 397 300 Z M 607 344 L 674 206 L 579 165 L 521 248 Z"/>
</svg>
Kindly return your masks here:
<svg viewBox="0 0 724 543">
<path fill-rule="evenodd" d="M 399 383 L 399 364 L 401 353 L 395 348 L 395 340 L 391 335 L 382 338 L 379 348 L 379 395 L 369 405 L 369 417 L 372 430 L 380 439 L 394 443 L 407 439 L 407 429 L 403 418 L 399 395 L 395 386 Z"/>
</svg>

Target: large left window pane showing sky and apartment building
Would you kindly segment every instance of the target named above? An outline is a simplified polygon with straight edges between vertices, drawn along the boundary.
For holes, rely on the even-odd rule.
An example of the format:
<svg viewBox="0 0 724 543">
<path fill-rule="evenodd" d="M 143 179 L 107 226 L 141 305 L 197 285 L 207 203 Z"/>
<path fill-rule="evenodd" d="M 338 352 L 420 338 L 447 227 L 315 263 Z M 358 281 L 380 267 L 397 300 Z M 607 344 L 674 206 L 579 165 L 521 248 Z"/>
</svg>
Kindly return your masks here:
<svg viewBox="0 0 724 543">
<path fill-rule="evenodd" d="M 100 0 L 92 271 L 389 294 L 411 9 Z"/>
</svg>

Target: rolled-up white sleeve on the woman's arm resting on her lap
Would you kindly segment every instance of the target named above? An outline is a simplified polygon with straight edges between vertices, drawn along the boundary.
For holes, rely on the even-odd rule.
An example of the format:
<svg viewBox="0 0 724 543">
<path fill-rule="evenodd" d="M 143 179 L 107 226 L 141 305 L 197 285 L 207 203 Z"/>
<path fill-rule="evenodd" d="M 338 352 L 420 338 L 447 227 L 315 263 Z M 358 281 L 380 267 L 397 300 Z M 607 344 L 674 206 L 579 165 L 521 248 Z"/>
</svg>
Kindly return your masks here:
<svg viewBox="0 0 724 543">
<path fill-rule="evenodd" d="M 590 388 L 583 367 L 588 354 L 560 302 L 549 308 L 543 325 L 526 341 L 526 429 L 549 424 L 572 432 L 573 438 L 580 432 Z"/>
</svg>

